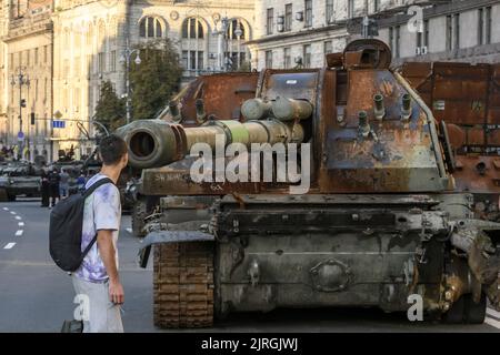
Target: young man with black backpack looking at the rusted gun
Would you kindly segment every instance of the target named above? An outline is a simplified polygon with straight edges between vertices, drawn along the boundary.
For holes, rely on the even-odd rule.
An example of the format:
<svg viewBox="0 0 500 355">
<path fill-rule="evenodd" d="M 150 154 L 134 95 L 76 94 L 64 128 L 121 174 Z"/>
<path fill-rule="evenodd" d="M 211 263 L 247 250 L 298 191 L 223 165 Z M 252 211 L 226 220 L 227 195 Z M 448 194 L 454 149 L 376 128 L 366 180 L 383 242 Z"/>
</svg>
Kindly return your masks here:
<svg viewBox="0 0 500 355">
<path fill-rule="evenodd" d="M 58 266 L 72 272 L 74 291 L 87 310 L 83 333 L 123 332 L 120 305 L 124 295 L 117 251 L 121 203 L 116 183 L 127 166 L 127 152 L 121 138 L 103 138 L 101 171 L 87 182 L 83 194 L 61 201 L 51 214 L 50 254 Z M 80 225 L 81 233 L 74 231 Z M 76 242 L 80 248 L 73 248 Z"/>
</svg>

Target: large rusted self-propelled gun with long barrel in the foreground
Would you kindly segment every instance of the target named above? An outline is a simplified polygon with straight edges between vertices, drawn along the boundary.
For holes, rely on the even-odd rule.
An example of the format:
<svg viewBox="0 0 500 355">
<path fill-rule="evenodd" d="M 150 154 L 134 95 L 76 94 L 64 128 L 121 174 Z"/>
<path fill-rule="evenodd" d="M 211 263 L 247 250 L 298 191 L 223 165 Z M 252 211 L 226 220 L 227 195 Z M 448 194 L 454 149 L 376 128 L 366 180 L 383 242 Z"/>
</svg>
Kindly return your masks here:
<svg viewBox="0 0 500 355">
<path fill-rule="evenodd" d="M 118 131 L 143 193 L 164 196 L 141 250 L 146 266 L 154 245 L 157 326 L 411 300 L 450 323 L 482 323 L 487 298 L 500 310 L 500 225 L 456 191 L 449 144 L 390 49 L 358 40 L 327 62 L 261 72 L 242 121 Z"/>
</svg>

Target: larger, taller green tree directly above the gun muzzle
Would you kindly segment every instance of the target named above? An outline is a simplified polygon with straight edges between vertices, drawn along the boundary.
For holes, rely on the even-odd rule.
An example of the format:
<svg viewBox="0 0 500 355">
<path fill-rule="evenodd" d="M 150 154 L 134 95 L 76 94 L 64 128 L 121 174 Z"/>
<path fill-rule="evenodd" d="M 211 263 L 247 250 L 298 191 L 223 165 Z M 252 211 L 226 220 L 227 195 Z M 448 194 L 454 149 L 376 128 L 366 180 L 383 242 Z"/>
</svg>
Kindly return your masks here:
<svg viewBox="0 0 500 355">
<path fill-rule="evenodd" d="M 138 47 L 141 63 L 131 58 L 132 119 L 153 119 L 179 90 L 182 67 L 169 39 Z"/>
</svg>

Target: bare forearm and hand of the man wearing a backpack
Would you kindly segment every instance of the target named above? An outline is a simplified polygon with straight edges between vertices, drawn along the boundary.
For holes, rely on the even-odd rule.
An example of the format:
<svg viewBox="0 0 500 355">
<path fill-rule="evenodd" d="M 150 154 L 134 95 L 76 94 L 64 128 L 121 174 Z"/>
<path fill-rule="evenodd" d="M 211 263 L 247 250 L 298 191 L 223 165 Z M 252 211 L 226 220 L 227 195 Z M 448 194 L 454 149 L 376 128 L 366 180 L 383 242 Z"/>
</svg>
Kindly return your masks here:
<svg viewBox="0 0 500 355">
<path fill-rule="evenodd" d="M 120 277 L 117 270 L 116 250 L 113 245 L 112 231 L 98 231 L 98 247 L 102 262 L 104 263 L 106 272 L 109 276 L 109 300 L 116 304 L 124 302 L 123 286 L 120 283 Z"/>
</svg>

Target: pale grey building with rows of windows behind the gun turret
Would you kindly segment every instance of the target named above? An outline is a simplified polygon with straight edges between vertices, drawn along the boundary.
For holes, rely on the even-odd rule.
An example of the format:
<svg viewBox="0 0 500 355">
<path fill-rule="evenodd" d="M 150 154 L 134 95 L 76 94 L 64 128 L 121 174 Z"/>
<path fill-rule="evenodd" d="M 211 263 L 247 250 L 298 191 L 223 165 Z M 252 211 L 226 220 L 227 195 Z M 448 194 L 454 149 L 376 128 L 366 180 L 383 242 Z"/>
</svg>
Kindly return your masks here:
<svg viewBox="0 0 500 355">
<path fill-rule="evenodd" d="M 252 67 L 322 67 L 324 57 L 361 38 L 364 16 L 403 60 L 500 60 L 500 1 L 259 0 Z M 411 11 L 410 11 L 411 10 Z M 410 13 L 410 14 L 407 14 Z"/>
</svg>

